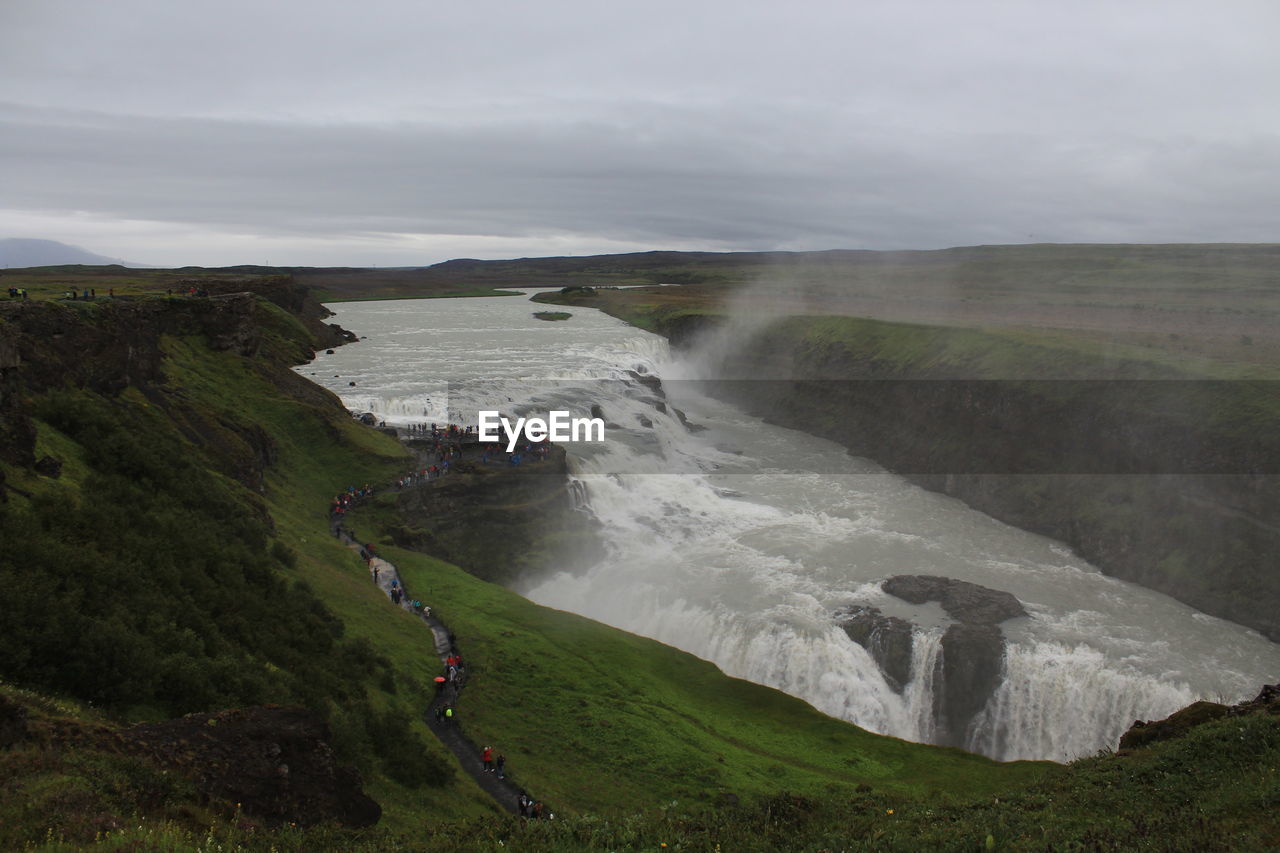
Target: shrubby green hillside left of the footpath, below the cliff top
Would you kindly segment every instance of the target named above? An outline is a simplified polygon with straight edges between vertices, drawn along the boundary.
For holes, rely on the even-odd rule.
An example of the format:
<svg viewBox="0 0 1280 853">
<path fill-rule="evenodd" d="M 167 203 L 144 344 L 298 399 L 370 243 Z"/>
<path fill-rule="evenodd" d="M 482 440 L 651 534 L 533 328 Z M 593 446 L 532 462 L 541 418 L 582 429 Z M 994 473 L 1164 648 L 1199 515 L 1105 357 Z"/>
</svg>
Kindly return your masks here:
<svg viewBox="0 0 1280 853">
<path fill-rule="evenodd" d="M 109 315 L 102 306 L 82 316 Z M 152 345 L 166 353 L 161 384 L 22 396 L 33 456 L 61 469 L 49 476 L 12 459 L 0 467 L 0 678 L 119 721 L 303 704 L 388 804 L 388 825 L 424 797 L 460 815 L 490 811 L 417 713 L 435 669 L 421 660 L 420 626 L 344 619 L 380 602 L 349 583 L 364 574 L 358 561 L 326 542 L 325 496 L 389 478 L 404 452 L 266 357 L 300 346 L 288 336 L 303 336 L 305 350 L 300 324 L 260 304 L 256 328 L 261 360 L 212 351 L 198 336 L 164 338 Z M 22 346 L 20 327 L 5 334 Z M 18 394 L 6 400 L 5 420 L 20 418 Z M 362 608 L 334 594 L 335 575 L 360 587 Z M 17 777 L 24 786 L 76 777 L 59 762 L 31 770 Z"/>
</svg>

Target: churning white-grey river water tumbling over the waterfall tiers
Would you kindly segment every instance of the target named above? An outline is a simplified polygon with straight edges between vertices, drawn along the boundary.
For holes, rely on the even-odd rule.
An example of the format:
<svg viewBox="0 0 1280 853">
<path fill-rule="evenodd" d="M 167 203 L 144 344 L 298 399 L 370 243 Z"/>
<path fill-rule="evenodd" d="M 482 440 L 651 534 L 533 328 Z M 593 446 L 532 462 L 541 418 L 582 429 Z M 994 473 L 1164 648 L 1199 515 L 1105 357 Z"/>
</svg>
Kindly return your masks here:
<svg viewBox="0 0 1280 853">
<path fill-rule="evenodd" d="M 699 378 L 696 359 L 598 311 L 544 321 L 522 297 L 332 307 L 366 339 L 298 370 L 352 411 L 474 424 L 481 409 L 603 409 L 605 441 L 567 447 L 608 557 L 531 583 L 529 598 L 653 637 L 832 716 L 934 736 L 932 672 L 947 619 L 883 593 L 879 583 L 897 574 L 969 580 L 1025 605 L 1029 617 L 1002 625 L 1002 683 L 964 740 L 995 758 L 1064 761 L 1114 747 L 1135 719 L 1201 698 L 1239 701 L 1280 671 L 1280 646 L 1252 630 L 700 394 L 682 382 Z M 636 374 L 662 378 L 666 414 Z M 672 407 L 707 429 L 686 429 Z M 833 613 L 856 603 L 919 626 L 901 693 L 837 626 Z"/>
</svg>

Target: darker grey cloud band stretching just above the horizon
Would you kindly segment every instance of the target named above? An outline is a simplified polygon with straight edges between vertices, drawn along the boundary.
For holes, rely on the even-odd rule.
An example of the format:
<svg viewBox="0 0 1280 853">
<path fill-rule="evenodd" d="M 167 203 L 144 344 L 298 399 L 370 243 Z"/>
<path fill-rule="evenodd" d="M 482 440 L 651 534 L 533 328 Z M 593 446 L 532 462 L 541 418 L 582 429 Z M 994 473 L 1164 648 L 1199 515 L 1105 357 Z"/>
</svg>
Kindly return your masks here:
<svg viewBox="0 0 1280 853">
<path fill-rule="evenodd" d="M 724 248 L 1266 240 L 1280 143 L 611 120 L 285 124 L 0 113 L 9 206 L 265 234 L 536 236 Z M 1230 196 L 1231 205 L 1220 199 Z"/>
</svg>

